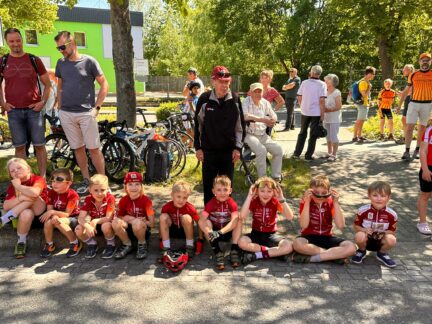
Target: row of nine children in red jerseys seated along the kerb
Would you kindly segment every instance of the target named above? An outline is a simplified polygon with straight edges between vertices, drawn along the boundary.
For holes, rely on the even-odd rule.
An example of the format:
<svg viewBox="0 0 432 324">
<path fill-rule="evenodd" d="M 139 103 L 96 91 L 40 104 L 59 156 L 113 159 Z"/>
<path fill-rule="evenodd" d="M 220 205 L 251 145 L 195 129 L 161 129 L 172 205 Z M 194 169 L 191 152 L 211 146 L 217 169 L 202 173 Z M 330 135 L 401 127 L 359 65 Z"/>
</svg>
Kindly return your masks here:
<svg viewBox="0 0 432 324">
<path fill-rule="evenodd" d="M 70 242 L 67 257 L 76 256 L 82 248 L 81 242 L 84 242 L 87 244 L 85 257 L 94 258 L 98 251 L 97 233 L 102 233 L 106 239 L 102 258 L 124 258 L 132 250 L 132 235 L 137 239 L 136 258 L 147 256 L 147 242 L 155 218 L 152 202 L 144 195 L 140 173 L 129 172 L 125 176 L 125 196 L 120 199 L 116 212 L 115 197 L 110 193 L 104 175 L 97 174 L 90 179 L 90 195 L 79 207 L 79 197 L 71 189 L 73 174 L 69 169 L 57 169 L 52 173 L 52 189 L 49 191 L 44 178 L 32 174 L 25 160 L 11 159 L 7 170 L 12 180 L 7 189 L 3 205 L 6 213 L 0 218 L 0 227 L 18 219 L 16 258 L 25 256 L 27 234 L 36 221 L 44 225 L 46 244 L 42 257 L 51 256 L 56 249 L 54 228 Z M 353 242 L 332 234 L 333 222 L 337 228 L 343 229 L 345 218 L 339 194 L 330 187 L 326 176 L 315 176 L 303 195 L 299 217 L 301 234 L 293 242 L 277 234 L 278 213 L 287 220 L 292 220 L 294 214 L 280 185 L 272 178 L 262 177 L 251 186 L 240 212 L 231 192 L 230 179 L 217 176 L 213 183 L 214 197 L 199 215 L 188 202 L 190 185 L 184 181 L 175 183 L 172 200 L 162 207 L 159 219 L 162 254 L 171 249 L 171 237 L 183 237 L 186 239 L 186 252 L 192 258 L 201 252 L 204 234 L 220 270 L 225 268 L 225 253 L 219 243 L 224 241 L 231 245 L 233 267 L 257 259 L 284 257 L 293 251 L 294 262 L 335 261 L 343 264 L 352 257 L 352 262 L 361 263 L 366 250 L 375 251 L 376 258 L 384 265 L 396 266 L 387 254 L 396 244 L 397 215 L 387 206 L 391 188 L 386 182 L 376 181 L 369 186 L 370 204 L 357 212 L 353 225 L 357 250 Z M 252 230 L 242 235 L 243 223 L 249 213 L 252 214 Z M 35 218 L 38 215 L 41 216 Z M 200 229 L 201 239 L 197 244 L 194 244 L 194 222 Z M 116 236 L 122 242 L 117 249 Z"/>
</svg>

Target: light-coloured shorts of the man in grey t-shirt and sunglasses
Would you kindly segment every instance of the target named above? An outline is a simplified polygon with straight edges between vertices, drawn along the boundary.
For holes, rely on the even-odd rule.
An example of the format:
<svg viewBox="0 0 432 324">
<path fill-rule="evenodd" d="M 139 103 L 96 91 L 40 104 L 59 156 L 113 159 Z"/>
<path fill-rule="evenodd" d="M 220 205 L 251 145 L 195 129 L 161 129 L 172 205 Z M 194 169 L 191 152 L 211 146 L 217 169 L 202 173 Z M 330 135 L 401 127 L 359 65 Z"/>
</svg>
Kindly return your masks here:
<svg viewBox="0 0 432 324">
<path fill-rule="evenodd" d="M 60 122 L 71 149 L 83 146 L 90 150 L 100 148 L 99 126 L 93 110 L 72 113 L 60 109 Z"/>
</svg>

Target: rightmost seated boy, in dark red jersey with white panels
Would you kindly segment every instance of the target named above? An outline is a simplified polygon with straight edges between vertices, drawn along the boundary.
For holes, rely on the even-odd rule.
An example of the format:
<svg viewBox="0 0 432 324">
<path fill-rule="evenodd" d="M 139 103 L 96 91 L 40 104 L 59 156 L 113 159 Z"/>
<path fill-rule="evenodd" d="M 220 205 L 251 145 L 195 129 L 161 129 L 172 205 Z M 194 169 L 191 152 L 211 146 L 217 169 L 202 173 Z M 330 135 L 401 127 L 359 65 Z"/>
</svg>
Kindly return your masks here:
<svg viewBox="0 0 432 324">
<path fill-rule="evenodd" d="M 354 263 L 362 263 L 366 250 L 375 251 L 376 258 L 389 268 L 396 263 L 387 252 L 396 245 L 396 212 L 387 206 L 391 187 L 387 182 L 375 181 L 368 187 L 370 204 L 359 208 L 354 221 L 354 240 L 358 245 L 356 254 L 351 258 Z"/>
</svg>

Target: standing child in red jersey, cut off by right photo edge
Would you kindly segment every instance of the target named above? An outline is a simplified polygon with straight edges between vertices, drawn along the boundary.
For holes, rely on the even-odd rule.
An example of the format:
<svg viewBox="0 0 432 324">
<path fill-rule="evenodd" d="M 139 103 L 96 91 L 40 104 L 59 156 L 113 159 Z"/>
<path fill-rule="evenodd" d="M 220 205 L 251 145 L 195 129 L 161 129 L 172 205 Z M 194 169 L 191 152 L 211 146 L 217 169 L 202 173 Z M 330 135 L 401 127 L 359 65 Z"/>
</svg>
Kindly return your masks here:
<svg viewBox="0 0 432 324">
<path fill-rule="evenodd" d="M 417 229 L 421 234 L 431 235 L 431 229 L 427 222 L 428 201 L 432 193 L 432 119 L 429 119 L 428 127 L 423 134 L 420 143 L 420 195 L 417 200 L 419 222 Z"/>
</svg>

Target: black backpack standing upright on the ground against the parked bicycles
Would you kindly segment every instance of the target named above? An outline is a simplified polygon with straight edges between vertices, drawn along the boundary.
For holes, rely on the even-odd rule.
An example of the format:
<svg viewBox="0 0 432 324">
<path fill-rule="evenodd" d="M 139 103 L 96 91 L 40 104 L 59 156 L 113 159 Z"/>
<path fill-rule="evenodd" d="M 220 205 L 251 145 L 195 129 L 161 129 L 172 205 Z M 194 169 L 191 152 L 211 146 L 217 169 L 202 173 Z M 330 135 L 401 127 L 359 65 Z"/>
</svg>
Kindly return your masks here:
<svg viewBox="0 0 432 324">
<path fill-rule="evenodd" d="M 170 143 L 148 140 L 147 145 L 144 181 L 146 183 L 152 183 L 168 180 L 171 169 L 168 153 Z"/>
</svg>

